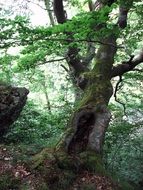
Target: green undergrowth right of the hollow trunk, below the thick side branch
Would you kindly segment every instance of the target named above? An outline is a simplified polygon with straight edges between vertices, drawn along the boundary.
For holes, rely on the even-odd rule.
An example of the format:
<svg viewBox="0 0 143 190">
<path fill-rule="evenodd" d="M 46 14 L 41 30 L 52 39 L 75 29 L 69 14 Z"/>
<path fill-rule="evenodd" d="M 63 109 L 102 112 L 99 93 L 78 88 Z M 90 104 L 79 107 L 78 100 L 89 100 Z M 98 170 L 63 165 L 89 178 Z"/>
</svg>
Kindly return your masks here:
<svg viewBox="0 0 143 190">
<path fill-rule="evenodd" d="M 138 66 L 142 69 L 142 65 Z M 112 120 L 105 141 L 105 165 L 118 177 L 136 184 L 142 179 L 142 74 L 130 72 L 123 77 L 117 92 L 119 102 L 110 104 Z M 123 108 L 124 106 L 124 108 Z M 125 111 L 125 113 L 124 113 Z"/>
</svg>

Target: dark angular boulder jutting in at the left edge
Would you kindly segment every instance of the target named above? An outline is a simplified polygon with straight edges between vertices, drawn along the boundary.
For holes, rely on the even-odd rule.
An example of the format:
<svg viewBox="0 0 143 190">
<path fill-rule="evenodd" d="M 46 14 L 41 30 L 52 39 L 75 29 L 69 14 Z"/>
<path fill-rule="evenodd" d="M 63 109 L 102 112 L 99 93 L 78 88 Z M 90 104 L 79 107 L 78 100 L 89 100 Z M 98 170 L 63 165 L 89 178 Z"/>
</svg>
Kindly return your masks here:
<svg viewBox="0 0 143 190">
<path fill-rule="evenodd" d="M 0 138 L 18 118 L 28 93 L 26 88 L 0 85 Z"/>
</svg>

